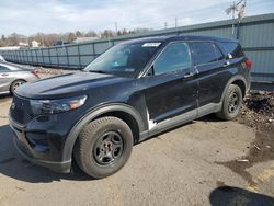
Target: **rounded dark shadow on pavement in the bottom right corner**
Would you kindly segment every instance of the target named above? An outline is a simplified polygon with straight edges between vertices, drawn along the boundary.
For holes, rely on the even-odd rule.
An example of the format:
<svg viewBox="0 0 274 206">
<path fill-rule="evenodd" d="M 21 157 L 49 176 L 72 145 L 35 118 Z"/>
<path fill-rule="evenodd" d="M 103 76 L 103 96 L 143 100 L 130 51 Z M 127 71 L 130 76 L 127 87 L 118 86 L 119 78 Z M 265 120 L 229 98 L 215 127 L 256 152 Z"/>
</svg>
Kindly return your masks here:
<svg viewBox="0 0 274 206">
<path fill-rule="evenodd" d="M 274 198 L 233 186 L 220 186 L 212 191 L 209 201 L 213 206 L 226 205 L 274 205 Z"/>
</svg>

